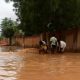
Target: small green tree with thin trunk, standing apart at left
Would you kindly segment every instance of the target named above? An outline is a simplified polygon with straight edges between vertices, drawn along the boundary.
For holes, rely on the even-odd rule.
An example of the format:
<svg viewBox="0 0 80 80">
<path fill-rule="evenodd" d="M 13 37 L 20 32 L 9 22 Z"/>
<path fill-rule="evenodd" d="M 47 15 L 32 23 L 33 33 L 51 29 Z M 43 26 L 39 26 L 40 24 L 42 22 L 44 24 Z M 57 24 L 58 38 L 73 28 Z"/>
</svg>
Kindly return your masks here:
<svg viewBox="0 0 80 80">
<path fill-rule="evenodd" d="M 9 45 L 12 44 L 12 37 L 14 36 L 17 28 L 17 23 L 10 18 L 4 18 L 1 22 L 2 35 L 9 38 Z"/>
</svg>

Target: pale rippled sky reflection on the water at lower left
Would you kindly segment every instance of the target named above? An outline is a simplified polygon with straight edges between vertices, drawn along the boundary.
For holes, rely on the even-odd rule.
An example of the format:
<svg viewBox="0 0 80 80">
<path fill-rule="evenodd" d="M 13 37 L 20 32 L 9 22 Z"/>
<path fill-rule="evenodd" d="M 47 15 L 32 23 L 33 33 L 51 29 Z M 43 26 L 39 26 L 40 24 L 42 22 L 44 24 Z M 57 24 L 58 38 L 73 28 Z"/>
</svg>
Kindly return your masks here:
<svg viewBox="0 0 80 80">
<path fill-rule="evenodd" d="M 0 80 L 16 80 L 21 68 L 20 56 L 10 53 L 0 53 Z"/>
</svg>

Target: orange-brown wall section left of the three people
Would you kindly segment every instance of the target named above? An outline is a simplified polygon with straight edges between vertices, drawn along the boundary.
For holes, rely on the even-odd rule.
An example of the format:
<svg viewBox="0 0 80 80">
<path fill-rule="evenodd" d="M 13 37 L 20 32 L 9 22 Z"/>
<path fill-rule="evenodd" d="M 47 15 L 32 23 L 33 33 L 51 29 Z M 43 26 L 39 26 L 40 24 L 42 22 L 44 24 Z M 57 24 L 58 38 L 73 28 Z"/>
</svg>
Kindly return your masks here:
<svg viewBox="0 0 80 80">
<path fill-rule="evenodd" d="M 23 47 L 37 47 L 39 41 L 41 40 L 41 35 L 31 36 L 31 37 L 16 37 L 15 42 Z"/>
</svg>

